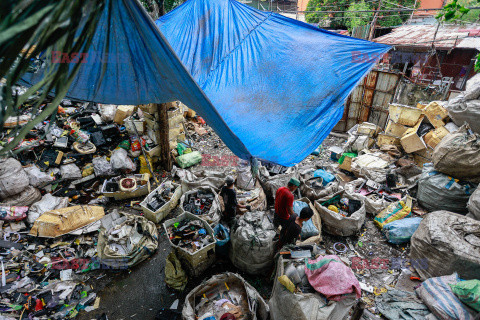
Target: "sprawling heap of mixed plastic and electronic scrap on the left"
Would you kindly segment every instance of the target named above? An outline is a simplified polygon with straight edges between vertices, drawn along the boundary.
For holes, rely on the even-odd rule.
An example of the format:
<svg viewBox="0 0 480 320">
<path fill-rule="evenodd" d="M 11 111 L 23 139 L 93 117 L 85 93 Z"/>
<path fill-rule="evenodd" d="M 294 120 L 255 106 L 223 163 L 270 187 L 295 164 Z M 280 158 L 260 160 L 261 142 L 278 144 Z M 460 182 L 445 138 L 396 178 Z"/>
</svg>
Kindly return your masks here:
<svg viewBox="0 0 480 320">
<path fill-rule="evenodd" d="M 184 111 L 191 113 L 179 102 L 168 104 L 172 156 L 192 153 Z M 7 119 L 1 144 L 32 117 Z M 158 121 L 153 104 L 63 100 L 12 156 L 0 159 L 3 315 L 66 319 L 95 310 L 97 279 L 155 252 L 155 213 L 170 212 L 181 196 L 172 179 L 157 183 L 165 176 L 157 168 Z"/>
</svg>

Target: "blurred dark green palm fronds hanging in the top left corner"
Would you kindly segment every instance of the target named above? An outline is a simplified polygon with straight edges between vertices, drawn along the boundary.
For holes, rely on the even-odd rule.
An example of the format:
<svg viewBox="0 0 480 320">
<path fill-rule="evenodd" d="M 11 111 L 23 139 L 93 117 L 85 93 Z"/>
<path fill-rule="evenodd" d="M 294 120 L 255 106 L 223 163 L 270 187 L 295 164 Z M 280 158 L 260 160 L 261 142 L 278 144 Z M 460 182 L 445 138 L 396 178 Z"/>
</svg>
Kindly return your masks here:
<svg viewBox="0 0 480 320">
<path fill-rule="evenodd" d="M 52 51 L 72 53 L 88 51 L 93 35 L 105 9 L 104 0 L 2 0 L 0 10 L 0 79 L 5 84 L 0 91 L 0 130 L 10 116 L 23 114 L 29 108 L 32 120 L 16 127 L 6 138 L 0 154 L 13 150 L 38 123 L 57 112 L 58 105 L 67 94 L 80 68 L 80 63 L 53 63 Z M 9 8 L 9 11 L 3 9 Z M 32 61 L 42 54 L 43 78 L 25 93 L 17 95 L 12 88 L 31 70 Z M 52 101 L 48 95 L 55 91 Z M 37 94 L 32 105 L 25 102 Z M 46 104 L 41 109 L 40 106 Z M 16 150 L 17 152 L 20 149 Z"/>
</svg>

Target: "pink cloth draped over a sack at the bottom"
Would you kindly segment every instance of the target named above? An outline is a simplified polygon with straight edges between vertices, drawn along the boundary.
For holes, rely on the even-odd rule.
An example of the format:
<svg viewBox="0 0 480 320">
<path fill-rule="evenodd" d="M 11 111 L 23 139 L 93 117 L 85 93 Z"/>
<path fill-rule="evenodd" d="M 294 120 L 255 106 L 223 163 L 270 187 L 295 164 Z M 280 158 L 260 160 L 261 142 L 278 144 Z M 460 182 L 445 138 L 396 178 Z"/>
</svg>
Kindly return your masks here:
<svg viewBox="0 0 480 320">
<path fill-rule="evenodd" d="M 335 261 L 319 266 L 323 259 Z M 319 256 L 315 260 L 308 260 L 305 273 L 312 287 L 329 300 L 341 301 L 350 293 L 355 293 L 357 298 L 362 295 L 360 283 L 352 269 L 343 264 L 337 256 Z"/>
</svg>

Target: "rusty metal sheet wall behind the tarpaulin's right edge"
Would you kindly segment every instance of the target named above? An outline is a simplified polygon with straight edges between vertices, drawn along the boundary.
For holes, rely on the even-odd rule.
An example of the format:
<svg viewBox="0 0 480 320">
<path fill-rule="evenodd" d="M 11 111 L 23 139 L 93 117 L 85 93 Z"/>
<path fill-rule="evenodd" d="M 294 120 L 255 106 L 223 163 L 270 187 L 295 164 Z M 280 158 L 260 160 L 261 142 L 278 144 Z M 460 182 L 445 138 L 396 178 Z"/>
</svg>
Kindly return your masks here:
<svg viewBox="0 0 480 320">
<path fill-rule="evenodd" d="M 388 117 L 388 104 L 392 102 L 400 74 L 374 70 L 359 84 L 347 99 L 343 118 L 335 131 L 348 131 L 365 121 L 384 128 Z"/>
</svg>

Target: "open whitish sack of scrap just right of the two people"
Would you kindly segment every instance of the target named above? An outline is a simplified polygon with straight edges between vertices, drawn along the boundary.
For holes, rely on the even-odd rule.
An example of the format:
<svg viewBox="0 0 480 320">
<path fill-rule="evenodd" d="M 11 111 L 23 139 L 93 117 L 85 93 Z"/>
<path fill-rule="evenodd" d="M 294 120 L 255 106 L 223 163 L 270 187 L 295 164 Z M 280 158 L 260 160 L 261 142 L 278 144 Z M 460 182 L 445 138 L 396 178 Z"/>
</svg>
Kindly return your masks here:
<svg viewBox="0 0 480 320">
<path fill-rule="evenodd" d="M 358 200 L 361 203 L 360 209 L 353 212 L 350 216 L 344 217 L 338 212 L 329 210 L 323 206 L 322 203 L 333 199 L 334 197 L 345 197 L 347 199 Z M 363 223 L 365 222 L 366 211 L 365 202 L 362 198 L 356 195 L 350 195 L 345 193 L 345 190 L 329 195 L 328 197 L 318 199 L 315 201 L 315 209 L 317 209 L 322 219 L 322 226 L 330 234 L 337 236 L 351 236 L 360 231 Z"/>
</svg>

